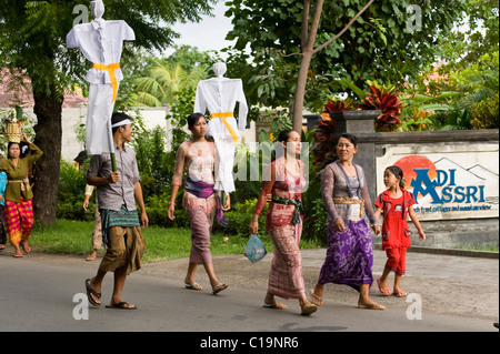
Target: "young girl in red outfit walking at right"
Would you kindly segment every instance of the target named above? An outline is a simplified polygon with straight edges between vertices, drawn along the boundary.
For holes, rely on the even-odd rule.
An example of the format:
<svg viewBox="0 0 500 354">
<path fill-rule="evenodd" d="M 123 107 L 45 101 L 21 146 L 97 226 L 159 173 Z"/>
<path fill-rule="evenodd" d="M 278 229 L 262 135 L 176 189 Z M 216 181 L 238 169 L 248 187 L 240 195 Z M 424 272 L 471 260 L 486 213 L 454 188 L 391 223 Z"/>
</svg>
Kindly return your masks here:
<svg viewBox="0 0 500 354">
<path fill-rule="evenodd" d="M 410 230 L 408 229 L 407 216 L 419 232 L 420 241 L 426 240 L 422 226 L 412 205 L 416 200 L 412 193 L 404 190 L 402 170 L 398 166 L 389 166 L 383 171 L 383 183 L 388 188 L 382 192 L 376 202 L 376 218 L 379 220 L 383 213 L 382 223 L 382 250 L 387 254 L 387 263 L 382 276 L 377 280 L 380 292 L 383 295 L 392 293 L 402 297 L 407 293 L 401 290 L 401 277 L 406 272 L 407 249 L 410 246 Z M 376 230 L 379 233 L 379 229 Z M 387 279 L 390 272 L 394 272 L 394 287 L 391 293 Z"/>
</svg>

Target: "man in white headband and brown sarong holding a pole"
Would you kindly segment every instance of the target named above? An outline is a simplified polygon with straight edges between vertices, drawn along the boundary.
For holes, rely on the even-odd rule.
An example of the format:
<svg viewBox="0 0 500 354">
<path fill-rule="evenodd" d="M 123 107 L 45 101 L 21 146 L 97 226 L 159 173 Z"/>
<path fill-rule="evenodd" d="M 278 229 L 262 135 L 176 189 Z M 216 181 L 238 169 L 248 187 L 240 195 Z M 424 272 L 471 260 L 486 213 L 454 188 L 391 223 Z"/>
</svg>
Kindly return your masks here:
<svg viewBox="0 0 500 354">
<path fill-rule="evenodd" d="M 93 155 L 87 171 L 87 183 L 97 186 L 102 220 L 102 243 L 107 245 L 98 273 L 86 281 L 89 302 L 101 304 L 101 283 L 108 272 L 114 272 L 114 289 L 108 307 L 136 310 L 121 299 L 128 274 L 141 267 L 144 239 L 141 229 L 148 226 L 136 153 L 126 146 L 132 139 L 130 118 L 113 113 L 111 118 L 117 170 L 111 169 L 110 154 Z M 136 202 L 139 204 L 139 218 Z"/>
</svg>

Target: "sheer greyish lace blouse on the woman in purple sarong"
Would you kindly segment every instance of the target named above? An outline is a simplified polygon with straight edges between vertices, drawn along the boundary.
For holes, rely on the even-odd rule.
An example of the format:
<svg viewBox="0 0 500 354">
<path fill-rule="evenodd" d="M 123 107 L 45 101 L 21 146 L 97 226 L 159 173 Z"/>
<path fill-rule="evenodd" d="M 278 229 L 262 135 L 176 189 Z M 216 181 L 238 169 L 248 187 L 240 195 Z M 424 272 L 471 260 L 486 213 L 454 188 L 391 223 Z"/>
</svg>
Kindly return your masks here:
<svg viewBox="0 0 500 354">
<path fill-rule="evenodd" d="M 346 225 L 349 220 L 363 219 L 370 224 L 376 223 L 373 205 L 368 192 L 363 169 L 354 164 L 357 175 L 348 176 L 338 161 L 324 168 L 321 174 L 321 190 L 327 209 L 328 225 L 342 218 Z M 347 203 L 347 200 L 359 199 L 362 204 Z M 361 212 L 364 208 L 364 213 Z M 368 219 L 368 220 L 367 220 Z"/>
</svg>

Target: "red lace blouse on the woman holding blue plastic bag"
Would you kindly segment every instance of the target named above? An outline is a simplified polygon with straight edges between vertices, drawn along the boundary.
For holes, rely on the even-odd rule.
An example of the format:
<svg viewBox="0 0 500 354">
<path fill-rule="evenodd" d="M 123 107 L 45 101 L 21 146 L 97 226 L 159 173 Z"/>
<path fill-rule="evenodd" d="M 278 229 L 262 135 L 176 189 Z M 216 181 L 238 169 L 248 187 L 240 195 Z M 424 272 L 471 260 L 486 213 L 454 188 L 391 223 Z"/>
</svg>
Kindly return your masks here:
<svg viewBox="0 0 500 354">
<path fill-rule="evenodd" d="M 262 176 L 262 189 L 257 201 L 254 214 L 260 215 L 267 200 L 266 194 L 279 195 L 291 200 L 302 200 L 302 190 L 306 186 L 306 179 L 303 178 L 303 162 L 299 161 L 299 175 L 294 178 L 287 170 L 284 159 L 280 158 L 271 162 L 264 170 Z M 266 215 L 266 231 L 269 233 L 272 230 L 283 227 L 293 219 L 296 212 L 294 205 L 283 205 L 270 203 L 268 213 Z M 301 220 L 303 216 L 301 215 Z"/>
</svg>

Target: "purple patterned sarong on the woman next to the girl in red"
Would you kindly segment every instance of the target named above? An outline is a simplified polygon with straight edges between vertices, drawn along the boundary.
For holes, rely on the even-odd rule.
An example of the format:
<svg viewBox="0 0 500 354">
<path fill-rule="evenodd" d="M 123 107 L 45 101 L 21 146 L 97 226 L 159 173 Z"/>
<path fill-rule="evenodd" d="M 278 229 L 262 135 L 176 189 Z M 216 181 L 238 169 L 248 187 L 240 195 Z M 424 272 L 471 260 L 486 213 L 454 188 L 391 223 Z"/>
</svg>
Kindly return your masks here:
<svg viewBox="0 0 500 354">
<path fill-rule="evenodd" d="M 344 232 L 327 227 L 328 251 L 319 284 L 346 284 L 359 291 L 360 284 L 373 282 L 373 243 L 363 220 L 349 221 Z"/>
</svg>

